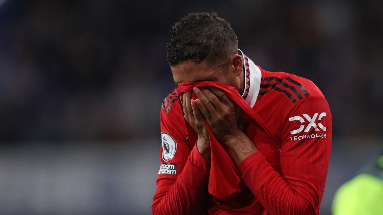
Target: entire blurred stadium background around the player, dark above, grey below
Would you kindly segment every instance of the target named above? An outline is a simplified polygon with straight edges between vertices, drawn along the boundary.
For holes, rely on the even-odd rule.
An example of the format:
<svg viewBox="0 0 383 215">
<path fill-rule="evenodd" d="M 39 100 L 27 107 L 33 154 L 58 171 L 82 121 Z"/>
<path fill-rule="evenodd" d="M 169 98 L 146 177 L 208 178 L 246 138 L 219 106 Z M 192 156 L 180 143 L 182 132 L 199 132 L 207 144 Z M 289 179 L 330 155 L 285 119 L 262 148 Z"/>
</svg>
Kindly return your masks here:
<svg viewBox="0 0 383 215">
<path fill-rule="evenodd" d="M 159 110 L 174 87 L 165 42 L 216 11 L 269 71 L 329 101 L 321 215 L 383 150 L 383 2 L 0 0 L 0 213 L 150 214 Z"/>
</svg>

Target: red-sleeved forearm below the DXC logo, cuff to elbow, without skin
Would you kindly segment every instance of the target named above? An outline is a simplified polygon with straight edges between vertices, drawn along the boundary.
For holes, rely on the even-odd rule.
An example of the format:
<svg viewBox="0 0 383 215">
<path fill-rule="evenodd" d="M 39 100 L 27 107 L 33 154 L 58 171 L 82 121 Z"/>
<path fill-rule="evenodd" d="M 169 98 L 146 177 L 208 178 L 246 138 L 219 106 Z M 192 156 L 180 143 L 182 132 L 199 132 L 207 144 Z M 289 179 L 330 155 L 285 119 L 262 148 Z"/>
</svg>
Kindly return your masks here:
<svg viewBox="0 0 383 215">
<path fill-rule="evenodd" d="M 254 196 L 272 215 L 316 214 L 319 211 L 320 197 L 312 185 L 303 179 L 286 181 L 275 171 L 262 153 L 257 152 L 240 165 L 242 179 Z"/>
</svg>

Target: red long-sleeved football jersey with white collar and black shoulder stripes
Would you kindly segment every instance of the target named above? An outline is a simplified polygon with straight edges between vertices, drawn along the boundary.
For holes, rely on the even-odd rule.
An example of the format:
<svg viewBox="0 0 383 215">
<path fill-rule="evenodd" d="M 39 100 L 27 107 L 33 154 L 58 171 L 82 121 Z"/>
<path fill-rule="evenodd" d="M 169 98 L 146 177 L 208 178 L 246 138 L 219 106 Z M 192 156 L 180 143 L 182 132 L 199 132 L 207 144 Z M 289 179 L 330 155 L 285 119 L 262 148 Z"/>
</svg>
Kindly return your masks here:
<svg viewBox="0 0 383 215">
<path fill-rule="evenodd" d="M 242 98 L 264 124 L 257 128 L 245 116 L 244 130 L 259 152 L 238 167 L 229 154 L 222 162 L 204 160 L 174 90 L 161 108 L 154 214 L 319 214 L 331 151 L 327 101 L 311 81 L 267 72 L 239 54 L 245 72 Z"/>
</svg>

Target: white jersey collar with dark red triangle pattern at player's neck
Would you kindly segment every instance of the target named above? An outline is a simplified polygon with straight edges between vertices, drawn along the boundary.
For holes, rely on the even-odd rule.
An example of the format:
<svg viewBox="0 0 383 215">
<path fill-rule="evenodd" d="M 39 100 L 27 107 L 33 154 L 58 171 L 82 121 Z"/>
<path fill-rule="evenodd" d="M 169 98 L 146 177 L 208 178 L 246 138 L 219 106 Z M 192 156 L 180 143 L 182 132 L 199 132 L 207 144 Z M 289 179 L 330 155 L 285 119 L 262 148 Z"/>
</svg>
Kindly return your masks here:
<svg viewBox="0 0 383 215">
<path fill-rule="evenodd" d="M 262 72 L 252 60 L 243 54 L 241 49 L 238 49 L 238 54 L 242 57 L 243 70 L 245 72 L 245 88 L 242 94 L 242 98 L 245 99 L 250 107 L 254 107 L 259 93 Z"/>
</svg>

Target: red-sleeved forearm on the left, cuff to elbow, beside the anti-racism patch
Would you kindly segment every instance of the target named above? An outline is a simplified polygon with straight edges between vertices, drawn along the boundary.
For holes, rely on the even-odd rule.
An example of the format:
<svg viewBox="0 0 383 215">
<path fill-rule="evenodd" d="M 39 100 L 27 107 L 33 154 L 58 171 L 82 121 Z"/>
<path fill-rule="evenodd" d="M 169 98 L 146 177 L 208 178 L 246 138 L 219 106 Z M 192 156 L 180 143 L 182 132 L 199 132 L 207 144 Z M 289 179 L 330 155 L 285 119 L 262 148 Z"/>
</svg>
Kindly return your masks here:
<svg viewBox="0 0 383 215">
<path fill-rule="evenodd" d="M 208 195 L 210 162 L 193 148 L 188 161 L 174 184 L 166 192 L 155 195 L 153 214 L 200 214 Z"/>
</svg>

